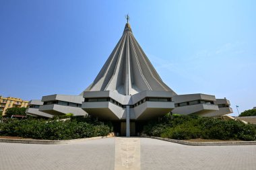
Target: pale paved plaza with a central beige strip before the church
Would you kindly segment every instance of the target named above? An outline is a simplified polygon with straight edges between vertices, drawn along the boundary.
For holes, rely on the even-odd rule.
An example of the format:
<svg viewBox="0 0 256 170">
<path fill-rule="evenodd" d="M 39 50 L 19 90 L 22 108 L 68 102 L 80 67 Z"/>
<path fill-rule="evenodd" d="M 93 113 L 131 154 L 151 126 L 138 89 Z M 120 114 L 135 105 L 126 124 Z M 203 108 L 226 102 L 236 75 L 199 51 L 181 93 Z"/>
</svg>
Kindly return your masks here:
<svg viewBox="0 0 256 170">
<path fill-rule="evenodd" d="M 152 138 L 0 143 L 0 170 L 256 169 L 256 146 L 187 146 Z"/>
</svg>

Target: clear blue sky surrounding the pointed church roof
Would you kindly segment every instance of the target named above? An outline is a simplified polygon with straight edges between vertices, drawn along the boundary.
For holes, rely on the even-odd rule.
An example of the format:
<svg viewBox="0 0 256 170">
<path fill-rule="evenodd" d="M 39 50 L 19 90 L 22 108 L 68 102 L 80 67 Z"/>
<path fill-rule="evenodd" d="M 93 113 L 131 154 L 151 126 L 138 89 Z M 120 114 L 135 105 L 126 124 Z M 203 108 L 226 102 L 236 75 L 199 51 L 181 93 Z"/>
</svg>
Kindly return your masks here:
<svg viewBox="0 0 256 170">
<path fill-rule="evenodd" d="M 179 94 L 256 106 L 256 1 L 0 1 L 0 95 L 77 95 L 123 34 Z"/>
</svg>

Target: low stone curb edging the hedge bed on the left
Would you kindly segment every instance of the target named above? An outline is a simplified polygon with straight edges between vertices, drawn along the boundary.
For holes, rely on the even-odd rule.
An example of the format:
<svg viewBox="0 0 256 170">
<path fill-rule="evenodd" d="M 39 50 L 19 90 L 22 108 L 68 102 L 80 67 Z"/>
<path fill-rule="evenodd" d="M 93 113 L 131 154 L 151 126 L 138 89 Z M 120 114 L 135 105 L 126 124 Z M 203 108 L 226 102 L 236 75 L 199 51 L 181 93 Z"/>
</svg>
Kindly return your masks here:
<svg viewBox="0 0 256 170">
<path fill-rule="evenodd" d="M 87 140 L 95 140 L 100 138 L 110 138 L 112 136 L 98 136 L 92 138 L 77 138 L 71 140 L 36 140 L 36 139 L 7 139 L 7 138 L 0 138 L 0 142 L 7 142 L 7 143 L 23 143 L 23 144 L 70 144 L 73 142 L 84 142 Z"/>
</svg>

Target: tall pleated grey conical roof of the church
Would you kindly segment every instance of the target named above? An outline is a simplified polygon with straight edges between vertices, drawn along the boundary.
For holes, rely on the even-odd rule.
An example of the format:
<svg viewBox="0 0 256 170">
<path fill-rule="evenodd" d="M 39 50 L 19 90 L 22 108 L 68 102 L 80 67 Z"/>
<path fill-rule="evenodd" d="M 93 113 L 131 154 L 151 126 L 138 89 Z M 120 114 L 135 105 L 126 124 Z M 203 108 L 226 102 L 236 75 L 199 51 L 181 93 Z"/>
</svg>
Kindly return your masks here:
<svg viewBox="0 0 256 170">
<path fill-rule="evenodd" d="M 85 91 L 115 91 L 123 95 L 134 95 L 146 90 L 172 91 L 139 46 L 127 22 L 123 36 L 94 82 Z"/>
</svg>

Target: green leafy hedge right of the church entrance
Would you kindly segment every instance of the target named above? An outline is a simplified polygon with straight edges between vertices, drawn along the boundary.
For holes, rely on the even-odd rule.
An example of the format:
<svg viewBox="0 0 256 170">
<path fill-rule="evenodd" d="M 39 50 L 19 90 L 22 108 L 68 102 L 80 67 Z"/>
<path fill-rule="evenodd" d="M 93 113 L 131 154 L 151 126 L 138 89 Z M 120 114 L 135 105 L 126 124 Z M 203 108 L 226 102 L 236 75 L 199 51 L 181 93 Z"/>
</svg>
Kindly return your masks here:
<svg viewBox="0 0 256 170">
<path fill-rule="evenodd" d="M 144 126 L 149 136 L 187 140 L 191 138 L 221 140 L 256 140 L 256 127 L 235 120 L 199 116 L 164 116 Z"/>
</svg>

